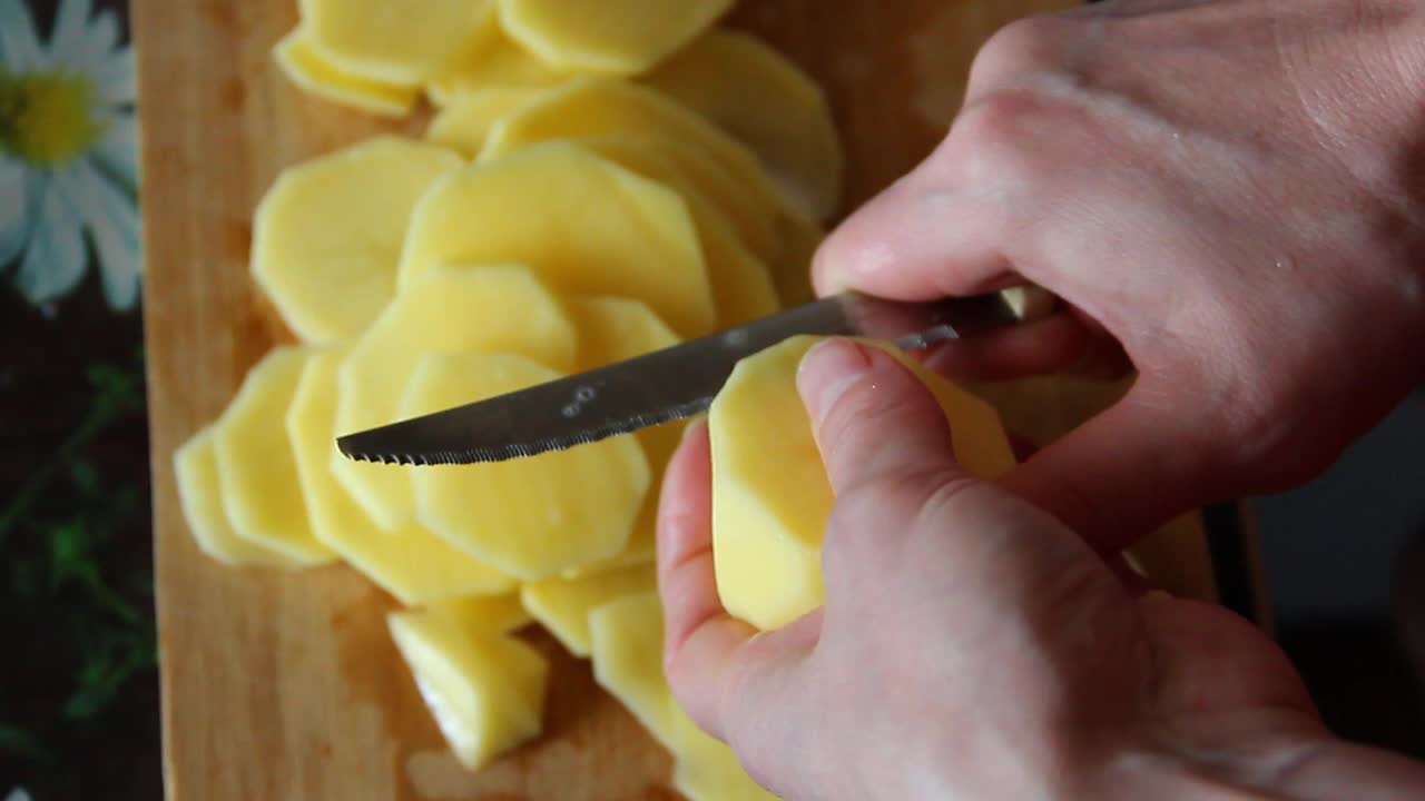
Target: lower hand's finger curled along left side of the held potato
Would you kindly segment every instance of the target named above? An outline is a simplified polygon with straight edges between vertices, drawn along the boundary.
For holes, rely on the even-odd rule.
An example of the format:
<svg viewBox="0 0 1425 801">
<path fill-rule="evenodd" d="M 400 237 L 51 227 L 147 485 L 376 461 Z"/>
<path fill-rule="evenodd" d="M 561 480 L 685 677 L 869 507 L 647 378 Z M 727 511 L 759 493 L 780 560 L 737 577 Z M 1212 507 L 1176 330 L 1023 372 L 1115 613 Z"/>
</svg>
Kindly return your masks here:
<svg viewBox="0 0 1425 801">
<path fill-rule="evenodd" d="M 784 678 L 805 647 L 797 636 L 758 636 L 731 617 L 712 563 L 711 462 L 707 426 L 688 426 L 664 473 L 658 506 L 658 591 L 664 604 L 664 671 L 694 723 L 727 740 L 767 727 L 795 697 Z M 809 646 L 807 646 L 809 647 Z M 777 698 L 781 698 L 781 703 Z"/>
</svg>

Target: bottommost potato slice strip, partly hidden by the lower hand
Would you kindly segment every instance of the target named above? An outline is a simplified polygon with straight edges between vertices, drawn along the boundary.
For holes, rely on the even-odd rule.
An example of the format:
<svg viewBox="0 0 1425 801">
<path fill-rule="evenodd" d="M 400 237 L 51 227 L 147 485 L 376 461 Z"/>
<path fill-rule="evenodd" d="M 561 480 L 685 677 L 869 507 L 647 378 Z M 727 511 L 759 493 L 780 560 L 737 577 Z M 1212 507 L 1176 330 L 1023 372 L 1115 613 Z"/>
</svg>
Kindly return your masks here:
<svg viewBox="0 0 1425 801">
<path fill-rule="evenodd" d="M 623 596 L 589 614 L 594 678 L 674 757 L 674 782 L 693 801 L 771 800 L 721 741 L 700 730 L 663 674 L 657 593 Z"/>
</svg>

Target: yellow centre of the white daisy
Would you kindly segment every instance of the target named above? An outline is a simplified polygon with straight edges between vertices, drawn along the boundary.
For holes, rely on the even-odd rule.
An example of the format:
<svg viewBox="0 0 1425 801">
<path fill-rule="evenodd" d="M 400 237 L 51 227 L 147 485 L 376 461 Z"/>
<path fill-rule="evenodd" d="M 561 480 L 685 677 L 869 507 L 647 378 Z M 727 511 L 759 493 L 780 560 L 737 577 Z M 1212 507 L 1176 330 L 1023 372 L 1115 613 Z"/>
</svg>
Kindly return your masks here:
<svg viewBox="0 0 1425 801">
<path fill-rule="evenodd" d="M 0 71 L 0 150 L 43 167 L 64 164 L 104 134 L 97 101 L 80 74 Z"/>
</svg>

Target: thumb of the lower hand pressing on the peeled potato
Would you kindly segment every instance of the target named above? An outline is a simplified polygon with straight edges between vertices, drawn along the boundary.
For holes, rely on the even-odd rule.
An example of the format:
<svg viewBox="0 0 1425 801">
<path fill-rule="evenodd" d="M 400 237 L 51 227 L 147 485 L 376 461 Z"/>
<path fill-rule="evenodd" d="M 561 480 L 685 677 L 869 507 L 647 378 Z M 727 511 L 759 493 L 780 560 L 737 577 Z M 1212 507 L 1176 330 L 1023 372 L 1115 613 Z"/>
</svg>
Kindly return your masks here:
<svg viewBox="0 0 1425 801">
<path fill-rule="evenodd" d="M 828 339 L 802 359 L 797 386 L 836 497 L 879 479 L 960 472 L 940 406 L 889 353 Z"/>
</svg>

